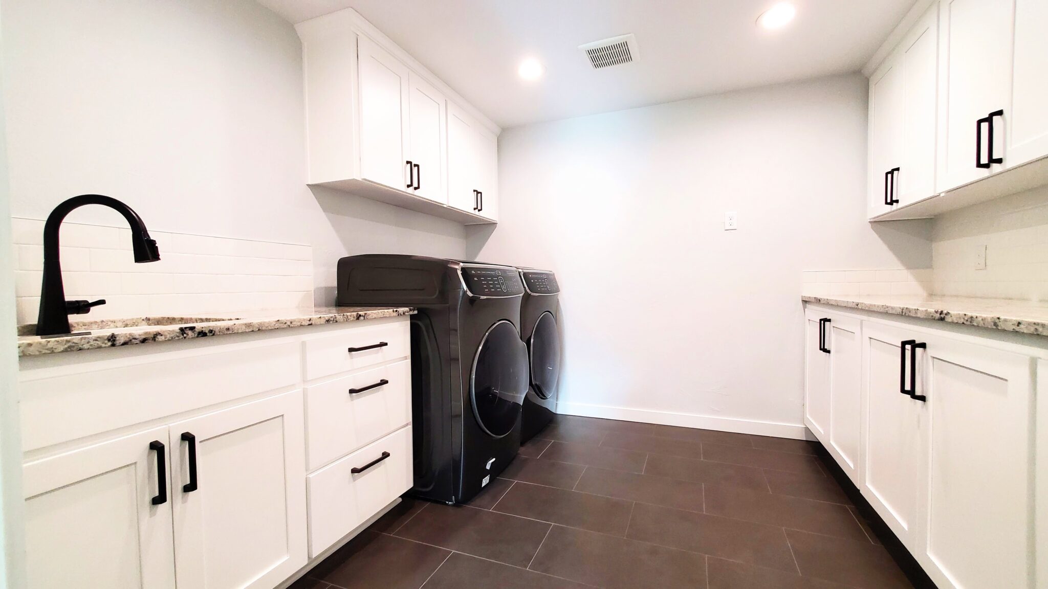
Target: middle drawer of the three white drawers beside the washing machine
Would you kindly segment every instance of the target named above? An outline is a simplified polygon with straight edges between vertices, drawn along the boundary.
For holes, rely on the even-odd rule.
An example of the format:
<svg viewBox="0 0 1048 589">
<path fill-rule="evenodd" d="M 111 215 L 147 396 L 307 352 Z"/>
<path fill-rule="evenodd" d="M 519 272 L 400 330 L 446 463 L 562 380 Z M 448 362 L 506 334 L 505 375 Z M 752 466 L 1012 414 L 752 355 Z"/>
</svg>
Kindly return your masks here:
<svg viewBox="0 0 1048 589">
<path fill-rule="evenodd" d="M 306 387 L 308 470 L 319 468 L 409 421 L 410 361 Z"/>
</svg>

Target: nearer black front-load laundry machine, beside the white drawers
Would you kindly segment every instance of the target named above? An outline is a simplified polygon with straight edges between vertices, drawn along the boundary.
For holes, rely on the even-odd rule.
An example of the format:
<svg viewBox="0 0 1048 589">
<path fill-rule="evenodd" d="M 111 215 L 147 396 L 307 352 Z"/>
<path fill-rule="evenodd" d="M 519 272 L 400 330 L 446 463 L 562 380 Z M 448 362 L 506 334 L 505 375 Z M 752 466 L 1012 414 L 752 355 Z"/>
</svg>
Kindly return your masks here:
<svg viewBox="0 0 1048 589">
<path fill-rule="evenodd" d="M 420 256 L 339 260 L 337 303 L 400 305 L 411 315 L 411 494 L 472 499 L 517 456 L 528 388 L 521 275 L 511 266 Z"/>
</svg>

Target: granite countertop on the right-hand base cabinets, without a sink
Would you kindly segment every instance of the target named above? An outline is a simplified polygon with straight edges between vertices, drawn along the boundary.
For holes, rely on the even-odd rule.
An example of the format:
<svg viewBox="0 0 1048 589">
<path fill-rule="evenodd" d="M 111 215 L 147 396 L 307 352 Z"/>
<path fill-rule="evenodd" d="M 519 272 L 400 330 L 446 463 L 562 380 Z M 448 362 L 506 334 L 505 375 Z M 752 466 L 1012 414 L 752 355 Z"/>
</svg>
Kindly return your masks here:
<svg viewBox="0 0 1048 589">
<path fill-rule="evenodd" d="M 1048 303 L 968 297 L 839 294 L 803 296 L 803 301 L 881 313 L 1048 335 Z"/>
</svg>

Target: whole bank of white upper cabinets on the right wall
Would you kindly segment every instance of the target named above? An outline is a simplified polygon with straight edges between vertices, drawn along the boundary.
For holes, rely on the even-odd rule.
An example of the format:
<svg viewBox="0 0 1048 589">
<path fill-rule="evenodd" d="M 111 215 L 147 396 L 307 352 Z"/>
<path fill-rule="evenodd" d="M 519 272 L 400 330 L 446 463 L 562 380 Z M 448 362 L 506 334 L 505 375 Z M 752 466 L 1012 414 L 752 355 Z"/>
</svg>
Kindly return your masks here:
<svg viewBox="0 0 1048 589">
<path fill-rule="evenodd" d="M 938 0 L 870 80 L 871 219 L 1048 182 L 1048 1 Z"/>
</svg>

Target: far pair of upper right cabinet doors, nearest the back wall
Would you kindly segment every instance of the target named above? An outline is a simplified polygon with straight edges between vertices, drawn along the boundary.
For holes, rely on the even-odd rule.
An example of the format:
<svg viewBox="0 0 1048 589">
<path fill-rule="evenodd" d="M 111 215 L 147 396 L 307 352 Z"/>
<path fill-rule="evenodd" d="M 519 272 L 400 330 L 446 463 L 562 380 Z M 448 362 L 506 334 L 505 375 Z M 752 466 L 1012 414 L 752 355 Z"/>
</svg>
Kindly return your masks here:
<svg viewBox="0 0 1048 589">
<path fill-rule="evenodd" d="M 935 193 L 939 5 L 870 79 L 871 217 Z"/>
</svg>

